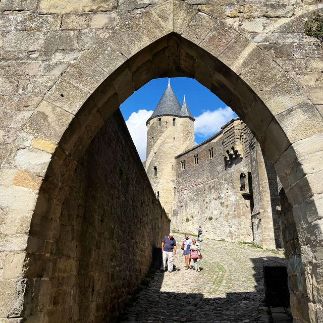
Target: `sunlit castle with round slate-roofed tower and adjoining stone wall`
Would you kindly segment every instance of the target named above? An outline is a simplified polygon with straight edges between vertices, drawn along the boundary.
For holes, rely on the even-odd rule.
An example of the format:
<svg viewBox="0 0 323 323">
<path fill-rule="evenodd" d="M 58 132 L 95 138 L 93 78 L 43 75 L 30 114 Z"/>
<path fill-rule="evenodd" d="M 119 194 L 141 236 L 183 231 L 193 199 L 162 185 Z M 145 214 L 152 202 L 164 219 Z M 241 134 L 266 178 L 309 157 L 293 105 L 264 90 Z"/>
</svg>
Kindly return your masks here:
<svg viewBox="0 0 323 323">
<path fill-rule="evenodd" d="M 170 83 L 147 120 L 145 168 L 173 230 L 282 247 L 281 184 L 240 118 L 194 146 L 194 117 Z"/>
</svg>

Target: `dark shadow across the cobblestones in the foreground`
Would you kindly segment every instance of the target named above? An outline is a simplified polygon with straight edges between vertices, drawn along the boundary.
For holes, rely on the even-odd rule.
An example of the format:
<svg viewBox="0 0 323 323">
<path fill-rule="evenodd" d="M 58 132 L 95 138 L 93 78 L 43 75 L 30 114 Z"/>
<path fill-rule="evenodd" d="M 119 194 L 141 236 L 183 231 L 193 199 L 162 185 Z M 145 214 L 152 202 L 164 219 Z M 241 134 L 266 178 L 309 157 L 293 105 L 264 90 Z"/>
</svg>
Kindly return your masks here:
<svg viewBox="0 0 323 323">
<path fill-rule="evenodd" d="M 263 265 L 273 265 L 277 257 L 250 259 L 255 286 L 252 292 L 228 292 L 226 297 L 203 298 L 199 293 L 160 292 L 163 280 L 174 273 L 156 272 L 149 287 L 136 294 L 118 322 L 257 322 L 265 319 Z M 277 261 L 276 261 L 277 262 Z M 201 276 L 202 277 L 202 276 Z M 227 280 L 230 277 L 226 278 Z M 268 318 L 266 318 L 268 321 Z"/>
</svg>

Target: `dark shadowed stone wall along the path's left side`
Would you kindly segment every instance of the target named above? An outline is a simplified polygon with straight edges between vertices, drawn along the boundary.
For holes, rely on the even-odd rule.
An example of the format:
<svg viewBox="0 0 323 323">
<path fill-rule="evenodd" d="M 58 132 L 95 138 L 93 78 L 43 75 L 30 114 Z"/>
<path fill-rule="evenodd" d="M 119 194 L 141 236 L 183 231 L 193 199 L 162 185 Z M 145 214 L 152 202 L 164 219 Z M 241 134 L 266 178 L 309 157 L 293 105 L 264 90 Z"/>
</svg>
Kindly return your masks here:
<svg viewBox="0 0 323 323">
<path fill-rule="evenodd" d="M 78 163 L 47 242 L 45 287 L 39 292 L 38 280 L 28 283 L 30 319 L 113 321 L 146 273 L 170 222 L 131 142 L 116 111 Z M 37 310 L 41 318 L 33 316 Z"/>
</svg>

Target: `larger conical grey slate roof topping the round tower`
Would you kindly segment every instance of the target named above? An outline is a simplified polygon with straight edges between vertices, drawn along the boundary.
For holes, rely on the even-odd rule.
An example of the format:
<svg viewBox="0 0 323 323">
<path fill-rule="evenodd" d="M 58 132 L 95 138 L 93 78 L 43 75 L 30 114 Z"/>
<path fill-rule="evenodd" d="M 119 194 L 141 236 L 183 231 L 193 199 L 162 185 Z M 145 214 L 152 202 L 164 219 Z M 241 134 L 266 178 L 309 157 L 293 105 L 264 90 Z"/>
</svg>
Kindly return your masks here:
<svg viewBox="0 0 323 323">
<path fill-rule="evenodd" d="M 155 116 L 163 116 L 163 115 L 174 115 L 174 116 L 180 116 L 181 113 L 181 105 L 174 94 L 170 83 L 168 83 L 168 86 L 163 94 L 161 96 L 154 112 L 150 116 L 148 120 L 150 120 L 152 117 Z"/>
</svg>

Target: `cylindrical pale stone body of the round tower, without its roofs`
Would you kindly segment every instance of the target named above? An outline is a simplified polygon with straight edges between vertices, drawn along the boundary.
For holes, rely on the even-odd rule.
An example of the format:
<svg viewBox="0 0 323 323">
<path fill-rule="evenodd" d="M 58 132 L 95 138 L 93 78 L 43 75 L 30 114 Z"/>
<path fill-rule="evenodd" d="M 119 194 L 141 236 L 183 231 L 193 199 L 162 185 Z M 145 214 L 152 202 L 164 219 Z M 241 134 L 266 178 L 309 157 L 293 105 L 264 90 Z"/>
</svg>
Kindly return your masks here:
<svg viewBox="0 0 323 323">
<path fill-rule="evenodd" d="M 174 157 L 194 146 L 194 122 L 189 118 L 161 116 L 150 120 L 147 128 L 146 172 L 161 205 L 171 215 L 176 187 Z"/>
</svg>

